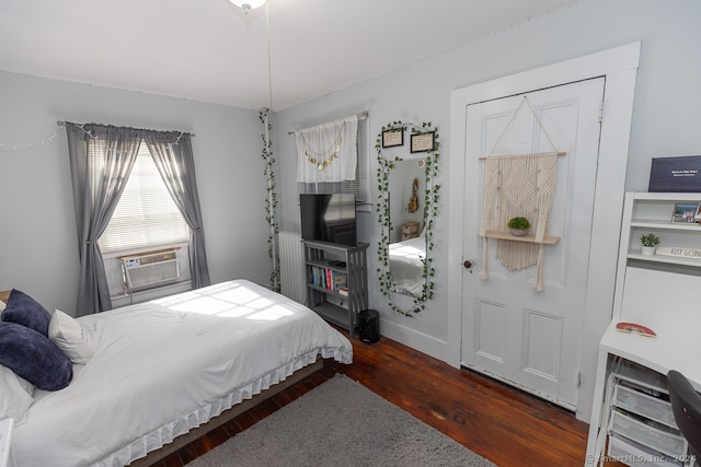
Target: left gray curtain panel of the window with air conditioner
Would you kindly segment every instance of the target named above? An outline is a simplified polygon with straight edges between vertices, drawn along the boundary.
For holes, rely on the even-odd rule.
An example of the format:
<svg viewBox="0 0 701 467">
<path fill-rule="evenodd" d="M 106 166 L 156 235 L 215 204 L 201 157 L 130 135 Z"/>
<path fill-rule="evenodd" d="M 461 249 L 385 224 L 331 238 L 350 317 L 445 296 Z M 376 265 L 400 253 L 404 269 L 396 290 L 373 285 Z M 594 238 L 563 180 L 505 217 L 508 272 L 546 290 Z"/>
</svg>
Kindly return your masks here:
<svg viewBox="0 0 701 467">
<path fill-rule="evenodd" d="M 77 316 L 112 310 L 97 238 L 124 191 L 141 143 L 139 130 L 66 124 L 78 226 Z"/>
</svg>

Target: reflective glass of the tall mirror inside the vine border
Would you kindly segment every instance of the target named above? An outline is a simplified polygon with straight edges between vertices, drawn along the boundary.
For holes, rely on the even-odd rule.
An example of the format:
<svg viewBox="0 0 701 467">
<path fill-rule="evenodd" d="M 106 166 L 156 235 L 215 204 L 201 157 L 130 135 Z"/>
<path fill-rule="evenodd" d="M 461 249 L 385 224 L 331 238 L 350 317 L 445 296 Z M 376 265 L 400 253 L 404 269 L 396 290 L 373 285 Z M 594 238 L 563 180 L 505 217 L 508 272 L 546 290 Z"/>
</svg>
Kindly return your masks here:
<svg viewBox="0 0 701 467">
<path fill-rule="evenodd" d="M 425 161 L 398 161 L 389 174 L 390 275 L 392 292 L 421 297 L 426 283 L 423 235 L 426 176 Z"/>
</svg>

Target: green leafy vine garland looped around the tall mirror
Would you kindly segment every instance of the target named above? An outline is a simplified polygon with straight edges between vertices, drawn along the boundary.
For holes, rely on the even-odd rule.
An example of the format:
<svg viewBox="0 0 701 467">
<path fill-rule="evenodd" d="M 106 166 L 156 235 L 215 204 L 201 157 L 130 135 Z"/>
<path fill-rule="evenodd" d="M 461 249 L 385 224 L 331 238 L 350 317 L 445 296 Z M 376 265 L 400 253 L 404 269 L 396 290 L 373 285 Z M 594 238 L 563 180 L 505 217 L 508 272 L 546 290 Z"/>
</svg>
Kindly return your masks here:
<svg viewBox="0 0 701 467">
<path fill-rule="evenodd" d="M 436 215 L 438 213 L 438 191 L 440 189 L 440 185 L 435 184 L 435 178 L 438 173 L 438 150 L 440 148 L 440 143 L 438 142 L 438 128 L 434 127 L 429 122 L 423 122 L 420 126 L 414 124 L 404 124 L 402 121 L 392 121 L 382 127 L 382 130 L 378 133 L 377 140 L 375 143 L 375 149 L 377 150 L 377 179 L 378 179 L 378 205 L 376 211 L 378 213 L 379 223 L 380 223 L 380 241 L 378 243 L 377 256 L 378 262 L 380 266 L 377 269 L 378 279 L 380 282 L 380 290 L 382 295 L 388 296 L 390 299 L 389 306 L 392 311 L 401 313 L 405 316 L 413 316 L 412 314 L 416 314 L 425 310 L 426 302 L 434 296 L 435 289 L 435 269 L 433 267 L 433 257 L 429 254 L 434 249 L 434 223 Z M 392 291 L 392 275 L 389 267 L 389 243 L 390 243 L 390 233 L 393 230 L 392 222 L 390 219 L 390 200 L 389 200 L 389 176 L 390 172 L 394 168 L 397 162 L 403 161 L 403 159 L 399 156 L 394 156 L 392 160 L 384 159 L 382 156 L 382 132 L 383 131 L 406 131 L 407 128 L 411 128 L 412 135 L 420 135 L 433 131 L 434 132 L 434 148 L 426 152 L 425 161 L 425 175 L 426 175 L 426 190 L 424 196 L 424 222 L 425 222 L 425 236 L 426 236 L 426 258 L 422 260 L 423 262 L 423 278 L 424 285 L 422 288 L 422 294 L 418 297 L 413 299 L 413 304 L 410 310 L 404 310 L 397 305 L 392 301 L 391 291 Z"/>
</svg>

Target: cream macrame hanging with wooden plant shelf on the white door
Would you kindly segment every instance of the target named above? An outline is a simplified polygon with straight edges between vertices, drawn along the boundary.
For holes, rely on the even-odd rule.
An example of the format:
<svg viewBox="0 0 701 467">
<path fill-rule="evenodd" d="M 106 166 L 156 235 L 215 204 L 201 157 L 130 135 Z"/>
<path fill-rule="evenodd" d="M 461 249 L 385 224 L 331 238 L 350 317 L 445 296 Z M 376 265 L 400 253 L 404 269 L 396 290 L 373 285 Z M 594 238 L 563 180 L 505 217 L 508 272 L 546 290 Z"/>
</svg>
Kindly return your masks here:
<svg viewBox="0 0 701 467">
<path fill-rule="evenodd" d="M 492 154 L 509 130 L 514 117 L 524 104 L 528 104 L 536 116 L 536 121 L 538 121 L 553 151 L 509 155 Z M 489 279 L 489 240 L 495 238 L 496 259 L 509 271 L 536 266 L 533 289 L 538 292 L 543 290 L 543 245 L 558 242 L 556 237 L 548 235 L 550 210 L 555 194 L 558 156 L 565 154 L 565 152 L 556 150 L 538 118 L 536 109 L 528 97 L 524 96 L 489 156 L 481 157 L 485 161 L 480 221 L 480 236 L 483 238 L 482 279 Z M 507 224 L 515 217 L 528 219 L 535 227 L 533 235 L 510 237 L 507 233 Z"/>
</svg>

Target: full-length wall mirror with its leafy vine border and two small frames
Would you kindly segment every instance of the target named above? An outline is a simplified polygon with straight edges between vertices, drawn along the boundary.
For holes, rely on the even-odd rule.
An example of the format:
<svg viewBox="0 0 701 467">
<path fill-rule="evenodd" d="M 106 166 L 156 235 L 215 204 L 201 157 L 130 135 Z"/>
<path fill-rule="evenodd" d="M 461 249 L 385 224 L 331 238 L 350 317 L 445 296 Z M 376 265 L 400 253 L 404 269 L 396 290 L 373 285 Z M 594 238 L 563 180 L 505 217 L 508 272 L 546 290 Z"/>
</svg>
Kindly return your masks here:
<svg viewBox="0 0 701 467">
<path fill-rule="evenodd" d="M 404 144 L 407 132 L 409 144 Z M 437 131 L 395 121 L 382 127 L 378 151 L 379 281 L 390 306 L 410 315 L 433 297 L 433 224 L 437 212 Z"/>
</svg>

